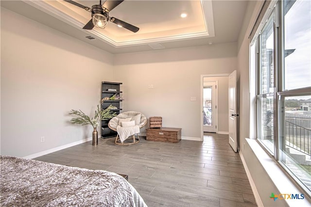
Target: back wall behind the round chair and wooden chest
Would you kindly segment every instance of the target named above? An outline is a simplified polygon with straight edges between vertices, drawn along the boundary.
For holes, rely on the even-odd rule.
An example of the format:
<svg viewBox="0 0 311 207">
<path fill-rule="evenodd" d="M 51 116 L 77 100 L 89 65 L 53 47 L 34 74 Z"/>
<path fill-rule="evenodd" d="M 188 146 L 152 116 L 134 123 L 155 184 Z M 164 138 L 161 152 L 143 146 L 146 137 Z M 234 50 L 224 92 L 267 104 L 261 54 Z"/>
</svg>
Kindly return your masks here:
<svg viewBox="0 0 311 207">
<path fill-rule="evenodd" d="M 123 82 L 123 109 L 162 116 L 163 127 L 179 127 L 183 137 L 200 138 L 200 76 L 231 73 L 236 57 L 236 43 L 117 54 L 114 77 Z M 148 89 L 151 84 L 154 89 Z"/>
</svg>

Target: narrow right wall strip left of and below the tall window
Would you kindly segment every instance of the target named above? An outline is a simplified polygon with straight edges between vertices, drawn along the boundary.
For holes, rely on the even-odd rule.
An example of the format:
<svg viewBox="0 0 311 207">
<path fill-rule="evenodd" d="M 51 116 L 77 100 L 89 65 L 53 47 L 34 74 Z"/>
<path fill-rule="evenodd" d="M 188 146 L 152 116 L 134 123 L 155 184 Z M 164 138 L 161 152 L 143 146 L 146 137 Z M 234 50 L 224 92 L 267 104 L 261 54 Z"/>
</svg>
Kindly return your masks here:
<svg viewBox="0 0 311 207">
<path fill-rule="evenodd" d="M 257 1 L 249 1 L 247 5 L 246 14 L 244 16 L 244 22 L 242 30 L 239 36 L 238 44 L 238 84 L 239 88 L 239 146 L 240 153 L 245 158 L 245 164 L 249 169 L 249 172 L 254 181 L 255 190 L 258 192 L 259 199 L 265 205 L 271 204 L 270 199 L 268 199 L 268 194 L 271 192 L 278 192 L 277 188 L 274 186 L 269 175 L 267 175 L 265 169 L 260 164 L 259 159 L 253 150 L 250 148 L 249 144 L 246 143 L 245 138 L 249 138 L 250 135 L 250 94 L 249 94 L 249 39 L 248 35 L 253 27 L 256 16 L 259 14 Z M 251 84 L 256 84 L 252 82 Z M 255 139 L 255 137 L 253 137 Z M 253 191 L 256 194 L 256 191 Z M 257 198 L 258 199 L 258 198 Z M 267 203 L 268 202 L 268 203 Z M 284 205 L 283 202 L 282 205 Z"/>
</svg>

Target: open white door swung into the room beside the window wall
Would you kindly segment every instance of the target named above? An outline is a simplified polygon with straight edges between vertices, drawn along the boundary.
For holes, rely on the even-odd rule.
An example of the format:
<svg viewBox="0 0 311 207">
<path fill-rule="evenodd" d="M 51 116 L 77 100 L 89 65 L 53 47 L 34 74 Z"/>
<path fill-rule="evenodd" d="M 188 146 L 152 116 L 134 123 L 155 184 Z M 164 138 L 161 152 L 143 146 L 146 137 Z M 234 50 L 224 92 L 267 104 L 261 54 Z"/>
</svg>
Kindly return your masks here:
<svg viewBox="0 0 311 207">
<path fill-rule="evenodd" d="M 229 75 L 229 144 L 237 152 L 237 71 Z"/>
</svg>

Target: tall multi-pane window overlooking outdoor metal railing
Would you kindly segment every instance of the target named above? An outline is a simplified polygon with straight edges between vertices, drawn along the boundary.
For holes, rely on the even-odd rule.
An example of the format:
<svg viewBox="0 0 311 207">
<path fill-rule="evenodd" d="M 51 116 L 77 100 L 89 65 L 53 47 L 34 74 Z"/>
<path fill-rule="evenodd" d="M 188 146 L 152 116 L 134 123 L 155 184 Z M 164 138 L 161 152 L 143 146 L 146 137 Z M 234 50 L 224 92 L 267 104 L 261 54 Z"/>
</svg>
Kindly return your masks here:
<svg viewBox="0 0 311 207">
<path fill-rule="evenodd" d="M 311 1 L 272 10 L 256 40 L 257 137 L 311 195 Z"/>
</svg>

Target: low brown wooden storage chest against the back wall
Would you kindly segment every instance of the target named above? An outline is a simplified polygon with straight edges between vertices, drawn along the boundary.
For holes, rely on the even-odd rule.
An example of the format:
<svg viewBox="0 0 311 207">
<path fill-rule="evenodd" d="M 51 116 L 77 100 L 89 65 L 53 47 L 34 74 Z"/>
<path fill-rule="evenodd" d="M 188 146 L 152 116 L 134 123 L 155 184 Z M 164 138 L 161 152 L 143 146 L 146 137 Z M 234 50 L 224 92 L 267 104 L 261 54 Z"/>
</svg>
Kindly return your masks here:
<svg viewBox="0 0 311 207">
<path fill-rule="evenodd" d="M 146 140 L 168 143 L 178 143 L 181 140 L 181 128 L 147 128 L 146 131 Z"/>
</svg>

